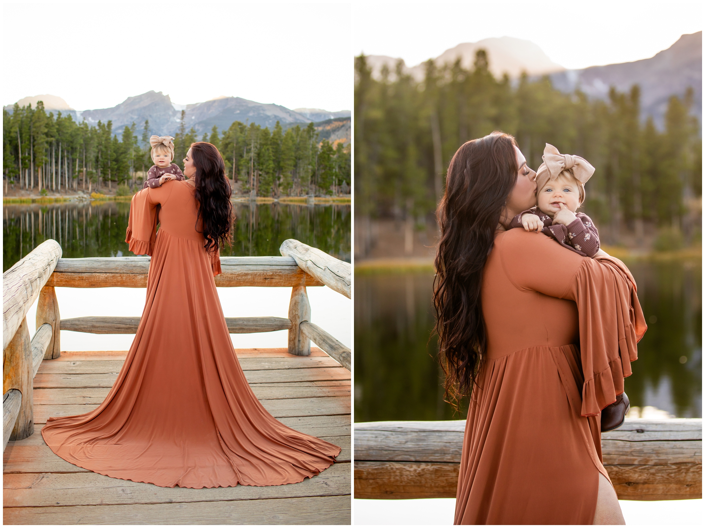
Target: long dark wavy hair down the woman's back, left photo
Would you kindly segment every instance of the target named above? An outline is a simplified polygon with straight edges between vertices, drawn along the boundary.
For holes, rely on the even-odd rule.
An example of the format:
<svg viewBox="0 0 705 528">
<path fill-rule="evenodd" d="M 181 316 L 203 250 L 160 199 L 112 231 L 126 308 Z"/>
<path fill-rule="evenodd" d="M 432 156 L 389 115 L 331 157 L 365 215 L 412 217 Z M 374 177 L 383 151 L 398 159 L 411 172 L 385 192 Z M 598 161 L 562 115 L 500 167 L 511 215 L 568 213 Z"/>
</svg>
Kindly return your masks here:
<svg viewBox="0 0 705 528">
<path fill-rule="evenodd" d="M 225 175 L 223 156 L 215 145 L 203 141 L 191 143 L 191 156 L 196 167 L 195 198 L 199 204 L 196 229 L 202 220 L 201 232 L 206 239 L 203 247 L 213 253 L 232 239 L 235 214 L 230 197 L 233 190 Z"/>
</svg>

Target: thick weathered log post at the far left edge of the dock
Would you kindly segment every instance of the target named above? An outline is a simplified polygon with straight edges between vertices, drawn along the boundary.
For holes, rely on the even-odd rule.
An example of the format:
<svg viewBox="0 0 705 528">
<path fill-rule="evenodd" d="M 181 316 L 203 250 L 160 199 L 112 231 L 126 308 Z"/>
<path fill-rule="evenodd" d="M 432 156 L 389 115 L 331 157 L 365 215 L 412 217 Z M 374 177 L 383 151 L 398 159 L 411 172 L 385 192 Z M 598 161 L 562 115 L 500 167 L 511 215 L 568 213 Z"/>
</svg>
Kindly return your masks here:
<svg viewBox="0 0 705 528">
<path fill-rule="evenodd" d="M 34 401 L 32 400 L 32 388 L 34 388 L 35 372 L 32 368 L 32 343 L 30 341 L 30 331 L 27 329 L 27 319 L 23 319 L 20 328 L 15 332 L 10 343 L 5 349 L 5 361 L 3 363 L 3 394 L 11 389 L 17 389 L 22 393 L 19 412 L 14 420 L 11 434 L 8 438 L 3 438 L 7 445 L 8 440 L 22 440 L 35 432 L 34 415 L 32 414 Z M 4 412 L 3 412 L 4 414 Z M 11 420 L 11 416 L 8 417 Z M 5 424 L 3 424 L 3 430 Z"/>
</svg>

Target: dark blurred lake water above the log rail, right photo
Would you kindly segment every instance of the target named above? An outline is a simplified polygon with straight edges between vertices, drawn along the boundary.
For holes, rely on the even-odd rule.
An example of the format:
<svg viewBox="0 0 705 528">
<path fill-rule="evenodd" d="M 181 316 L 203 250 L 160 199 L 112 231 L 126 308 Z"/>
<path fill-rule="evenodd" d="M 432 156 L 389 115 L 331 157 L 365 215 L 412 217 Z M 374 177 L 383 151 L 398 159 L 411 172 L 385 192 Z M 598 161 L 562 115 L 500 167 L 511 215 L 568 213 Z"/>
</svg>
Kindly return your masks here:
<svg viewBox="0 0 705 528">
<path fill-rule="evenodd" d="M 701 262 L 626 262 L 649 330 L 625 391 L 632 407 L 701 417 Z M 433 276 L 355 276 L 355 422 L 461 419 L 443 401 Z"/>
</svg>

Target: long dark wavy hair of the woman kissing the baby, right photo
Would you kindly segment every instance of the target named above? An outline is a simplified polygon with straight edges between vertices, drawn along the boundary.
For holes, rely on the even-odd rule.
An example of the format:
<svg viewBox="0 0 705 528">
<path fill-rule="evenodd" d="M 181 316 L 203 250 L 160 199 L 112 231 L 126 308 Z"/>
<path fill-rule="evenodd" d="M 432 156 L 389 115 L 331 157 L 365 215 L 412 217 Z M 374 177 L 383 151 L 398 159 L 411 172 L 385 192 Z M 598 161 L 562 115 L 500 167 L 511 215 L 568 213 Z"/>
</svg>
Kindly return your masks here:
<svg viewBox="0 0 705 528">
<path fill-rule="evenodd" d="M 514 137 L 493 132 L 468 141 L 448 166 L 436 216 L 441 237 L 434 279 L 435 331 L 446 375 L 446 401 L 458 408 L 472 393 L 487 348 L 482 271 L 517 181 Z"/>
</svg>

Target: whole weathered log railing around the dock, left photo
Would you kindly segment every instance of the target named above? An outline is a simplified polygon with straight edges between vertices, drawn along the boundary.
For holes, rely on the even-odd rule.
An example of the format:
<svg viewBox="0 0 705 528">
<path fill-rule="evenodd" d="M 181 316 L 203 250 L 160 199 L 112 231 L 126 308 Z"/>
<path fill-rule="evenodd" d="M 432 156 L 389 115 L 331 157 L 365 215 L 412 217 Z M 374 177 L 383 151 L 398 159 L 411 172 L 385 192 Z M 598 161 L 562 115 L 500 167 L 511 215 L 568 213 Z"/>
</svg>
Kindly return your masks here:
<svg viewBox="0 0 705 528">
<path fill-rule="evenodd" d="M 350 370 L 350 349 L 312 324 L 307 286 L 329 286 L 350 298 L 350 264 L 298 240 L 285 240 L 281 257 L 221 257 L 216 286 L 292 289 L 289 317 L 226 317 L 230 333 L 288 330 L 288 351 L 309 355 L 311 341 Z M 61 354 L 60 331 L 136 333 L 140 317 L 61 319 L 56 286 L 146 288 L 150 257 L 62 259 L 47 240 L 3 274 L 3 450 L 34 430 L 32 385 L 42 360 Z M 37 331 L 30 340 L 25 316 L 38 299 Z"/>
</svg>

